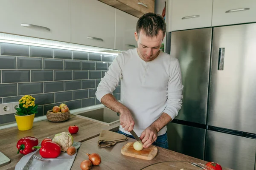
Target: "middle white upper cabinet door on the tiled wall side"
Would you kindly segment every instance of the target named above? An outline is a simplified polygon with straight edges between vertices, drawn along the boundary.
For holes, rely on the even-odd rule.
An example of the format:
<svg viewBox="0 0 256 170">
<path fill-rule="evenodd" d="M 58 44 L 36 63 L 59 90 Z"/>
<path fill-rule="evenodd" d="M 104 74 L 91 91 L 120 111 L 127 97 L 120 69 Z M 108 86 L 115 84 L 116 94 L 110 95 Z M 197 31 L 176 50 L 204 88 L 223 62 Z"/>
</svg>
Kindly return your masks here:
<svg viewBox="0 0 256 170">
<path fill-rule="evenodd" d="M 71 42 L 115 48 L 115 8 L 98 0 L 71 0 Z"/>
</svg>

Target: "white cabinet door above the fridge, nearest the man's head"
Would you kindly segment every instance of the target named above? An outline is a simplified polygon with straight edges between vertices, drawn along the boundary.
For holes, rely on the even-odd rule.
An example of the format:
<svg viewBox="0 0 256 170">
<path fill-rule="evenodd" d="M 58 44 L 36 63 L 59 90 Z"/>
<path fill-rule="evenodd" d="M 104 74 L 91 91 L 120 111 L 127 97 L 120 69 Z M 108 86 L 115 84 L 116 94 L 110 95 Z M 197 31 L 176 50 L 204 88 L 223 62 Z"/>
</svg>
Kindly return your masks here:
<svg viewBox="0 0 256 170">
<path fill-rule="evenodd" d="M 173 0 L 172 31 L 210 27 L 212 0 Z"/>
</svg>

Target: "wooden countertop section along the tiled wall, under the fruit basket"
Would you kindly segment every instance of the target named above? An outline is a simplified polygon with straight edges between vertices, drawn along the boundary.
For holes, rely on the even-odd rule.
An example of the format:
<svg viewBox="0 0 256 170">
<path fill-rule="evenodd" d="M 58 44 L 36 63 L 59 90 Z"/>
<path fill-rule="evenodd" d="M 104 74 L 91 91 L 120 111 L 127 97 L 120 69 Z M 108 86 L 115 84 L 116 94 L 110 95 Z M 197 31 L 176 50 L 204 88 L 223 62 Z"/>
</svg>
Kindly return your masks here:
<svg viewBox="0 0 256 170">
<path fill-rule="evenodd" d="M 102 129 L 116 131 L 119 128 L 119 123 L 107 126 L 71 115 L 70 119 L 65 122 L 57 123 L 48 120 L 34 122 L 33 128 L 26 131 L 20 131 L 17 127 L 2 129 L 0 130 L 0 151 L 11 159 L 11 162 L 0 169 L 14 170 L 17 162 L 22 158 L 22 154 L 17 154 L 16 144 L 19 139 L 33 136 L 38 139 L 38 142 L 41 142 L 46 137 L 53 138 L 56 133 L 68 132 L 70 125 L 79 126 L 79 132 L 72 135 L 76 142 L 84 142 L 99 136 Z"/>
</svg>

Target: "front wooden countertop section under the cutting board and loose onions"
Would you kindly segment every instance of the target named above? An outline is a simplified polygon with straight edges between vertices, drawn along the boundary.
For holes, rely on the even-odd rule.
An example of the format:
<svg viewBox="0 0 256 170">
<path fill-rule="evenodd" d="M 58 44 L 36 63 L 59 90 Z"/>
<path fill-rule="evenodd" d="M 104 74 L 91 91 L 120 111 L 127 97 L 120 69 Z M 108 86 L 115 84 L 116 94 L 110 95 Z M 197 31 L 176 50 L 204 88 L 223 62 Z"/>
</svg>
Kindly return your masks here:
<svg viewBox="0 0 256 170">
<path fill-rule="evenodd" d="M 157 156 L 152 160 L 137 159 L 121 154 L 121 148 L 128 142 L 134 142 L 135 139 L 128 138 L 125 142 L 119 142 L 113 147 L 104 148 L 98 146 L 98 138 L 89 139 L 81 143 L 76 159 L 71 170 L 79 170 L 83 160 L 88 159 L 86 153 L 98 153 L 101 156 L 102 163 L 98 166 L 93 166 L 91 170 L 140 170 L 148 165 L 162 161 L 191 161 L 206 164 L 206 161 L 196 159 L 191 156 L 186 156 L 172 150 L 157 147 Z M 222 168 L 223 170 L 230 170 Z"/>
</svg>

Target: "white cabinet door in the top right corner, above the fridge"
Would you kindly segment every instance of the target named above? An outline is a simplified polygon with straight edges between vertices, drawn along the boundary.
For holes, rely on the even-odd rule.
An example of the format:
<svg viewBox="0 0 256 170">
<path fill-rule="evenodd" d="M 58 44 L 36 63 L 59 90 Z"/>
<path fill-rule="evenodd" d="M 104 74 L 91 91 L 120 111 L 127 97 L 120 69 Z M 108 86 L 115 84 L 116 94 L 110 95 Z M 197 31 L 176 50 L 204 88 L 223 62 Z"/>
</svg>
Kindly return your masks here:
<svg viewBox="0 0 256 170">
<path fill-rule="evenodd" d="M 213 0 L 212 26 L 256 22 L 256 0 Z"/>
</svg>

